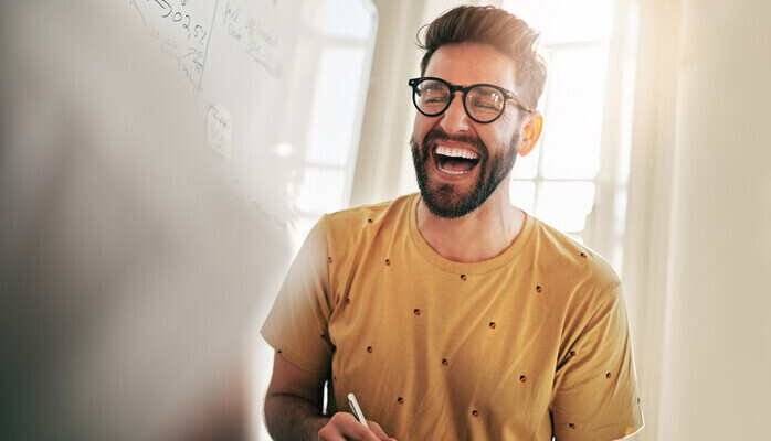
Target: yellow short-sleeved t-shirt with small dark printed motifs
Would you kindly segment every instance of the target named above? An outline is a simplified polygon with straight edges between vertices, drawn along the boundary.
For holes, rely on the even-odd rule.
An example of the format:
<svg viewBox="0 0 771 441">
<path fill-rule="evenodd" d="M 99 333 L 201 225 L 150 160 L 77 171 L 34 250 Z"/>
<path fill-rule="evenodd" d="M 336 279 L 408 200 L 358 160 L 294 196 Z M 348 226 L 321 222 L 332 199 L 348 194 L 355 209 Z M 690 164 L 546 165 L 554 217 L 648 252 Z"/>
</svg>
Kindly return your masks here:
<svg viewBox="0 0 771 441">
<path fill-rule="evenodd" d="M 262 334 L 331 379 L 329 406 L 408 440 L 614 440 L 642 427 L 620 281 L 527 216 L 500 256 L 461 263 L 415 222 L 419 194 L 324 216 Z"/>
</svg>

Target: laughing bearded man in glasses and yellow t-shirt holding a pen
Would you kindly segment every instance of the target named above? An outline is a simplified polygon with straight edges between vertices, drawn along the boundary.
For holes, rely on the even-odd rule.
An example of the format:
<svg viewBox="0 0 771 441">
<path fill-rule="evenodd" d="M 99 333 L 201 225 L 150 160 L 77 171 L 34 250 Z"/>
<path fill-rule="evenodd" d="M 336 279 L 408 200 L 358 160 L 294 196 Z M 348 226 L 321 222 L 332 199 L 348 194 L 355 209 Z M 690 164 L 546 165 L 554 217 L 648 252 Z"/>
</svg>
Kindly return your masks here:
<svg viewBox="0 0 771 441">
<path fill-rule="evenodd" d="M 429 25 L 410 80 L 421 192 L 308 235 L 262 330 L 275 439 L 596 441 L 642 426 L 617 277 L 510 203 L 542 127 L 536 41 L 489 7 Z"/>
</svg>

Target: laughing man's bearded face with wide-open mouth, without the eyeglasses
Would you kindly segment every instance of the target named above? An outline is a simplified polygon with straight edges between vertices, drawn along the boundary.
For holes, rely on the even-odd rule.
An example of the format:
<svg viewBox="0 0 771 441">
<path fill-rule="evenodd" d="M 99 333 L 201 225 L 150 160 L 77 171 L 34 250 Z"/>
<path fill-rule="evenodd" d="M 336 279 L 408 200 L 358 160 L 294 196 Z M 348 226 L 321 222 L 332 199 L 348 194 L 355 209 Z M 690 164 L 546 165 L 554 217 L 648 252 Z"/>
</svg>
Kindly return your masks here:
<svg viewBox="0 0 771 441">
<path fill-rule="evenodd" d="M 514 61 L 478 43 L 443 45 L 431 56 L 423 76 L 457 86 L 494 84 L 516 90 Z M 466 115 L 463 94 L 435 117 L 415 116 L 410 141 L 423 202 L 437 216 L 455 218 L 480 206 L 514 166 L 520 144 L 520 109 L 509 101 L 490 123 Z"/>
</svg>

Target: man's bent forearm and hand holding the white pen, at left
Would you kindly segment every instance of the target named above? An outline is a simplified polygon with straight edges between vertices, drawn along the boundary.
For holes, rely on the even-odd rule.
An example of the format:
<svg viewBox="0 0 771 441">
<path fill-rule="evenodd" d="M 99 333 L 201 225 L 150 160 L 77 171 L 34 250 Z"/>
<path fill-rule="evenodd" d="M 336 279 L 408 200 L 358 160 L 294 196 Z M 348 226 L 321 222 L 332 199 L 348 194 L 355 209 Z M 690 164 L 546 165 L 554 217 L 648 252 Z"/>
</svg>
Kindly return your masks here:
<svg viewBox="0 0 771 441">
<path fill-rule="evenodd" d="M 351 413 L 321 415 L 324 377 L 274 356 L 273 378 L 265 397 L 265 423 L 276 441 L 388 440 L 374 421 L 367 429 Z"/>
</svg>

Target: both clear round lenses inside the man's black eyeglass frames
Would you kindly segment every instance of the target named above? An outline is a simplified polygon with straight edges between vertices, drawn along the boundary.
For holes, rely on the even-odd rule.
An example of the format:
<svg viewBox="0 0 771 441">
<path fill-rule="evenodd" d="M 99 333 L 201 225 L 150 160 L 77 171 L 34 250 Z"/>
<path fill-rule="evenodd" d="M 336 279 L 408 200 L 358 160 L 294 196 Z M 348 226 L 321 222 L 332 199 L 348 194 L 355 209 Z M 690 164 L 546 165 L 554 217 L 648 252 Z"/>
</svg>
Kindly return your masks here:
<svg viewBox="0 0 771 441">
<path fill-rule="evenodd" d="M 415 104 L 429 115 L 442 114 L 450 105 L 450 87 L 435 79 L 425 79 L 415 87 Z M 465 108 L 468 116 L 482 122 L 492 121 L 504 111 L 505 97 L 493 87 L 476 86 L 466 94 Z"/>
</svg>

